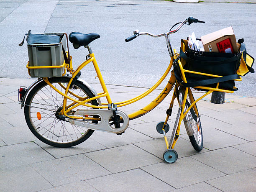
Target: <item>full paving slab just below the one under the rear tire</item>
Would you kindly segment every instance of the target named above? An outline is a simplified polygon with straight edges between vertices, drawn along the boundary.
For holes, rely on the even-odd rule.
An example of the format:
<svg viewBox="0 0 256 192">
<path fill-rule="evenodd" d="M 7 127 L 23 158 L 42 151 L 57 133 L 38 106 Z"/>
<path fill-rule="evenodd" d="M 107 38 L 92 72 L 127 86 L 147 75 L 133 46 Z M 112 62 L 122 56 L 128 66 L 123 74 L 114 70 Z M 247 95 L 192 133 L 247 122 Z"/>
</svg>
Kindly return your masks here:
<svg viewBox="0 0 256 192">
<path fill-rule="evenodd" d="M 30 166 L 54 187 L 110 174 L 108 170 L 82 154 Z"/>
</svg>

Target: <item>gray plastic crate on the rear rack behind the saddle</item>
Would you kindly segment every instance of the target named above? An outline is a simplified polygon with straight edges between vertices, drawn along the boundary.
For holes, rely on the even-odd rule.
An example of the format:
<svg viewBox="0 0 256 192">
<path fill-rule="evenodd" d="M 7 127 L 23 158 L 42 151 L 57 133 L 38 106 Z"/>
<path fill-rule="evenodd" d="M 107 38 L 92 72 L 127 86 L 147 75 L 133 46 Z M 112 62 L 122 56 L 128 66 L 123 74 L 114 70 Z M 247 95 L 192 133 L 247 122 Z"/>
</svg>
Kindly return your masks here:
<svg viewBox="0 0 256 192">
<path fill-rule="evenodd" d="M 61 36 L 63 33 L 44 33 L 42 35 Z M 61 39 L 66 51 L 66 36 Z M 59 44 L 30 44 L 28 45 L 28 58 L 30 67 L 62 65 L 64 56 L 61 43 Z M 31 77 L 61 77 L 64 67 L 47 69 L 29 69 Z"/>
</svg>

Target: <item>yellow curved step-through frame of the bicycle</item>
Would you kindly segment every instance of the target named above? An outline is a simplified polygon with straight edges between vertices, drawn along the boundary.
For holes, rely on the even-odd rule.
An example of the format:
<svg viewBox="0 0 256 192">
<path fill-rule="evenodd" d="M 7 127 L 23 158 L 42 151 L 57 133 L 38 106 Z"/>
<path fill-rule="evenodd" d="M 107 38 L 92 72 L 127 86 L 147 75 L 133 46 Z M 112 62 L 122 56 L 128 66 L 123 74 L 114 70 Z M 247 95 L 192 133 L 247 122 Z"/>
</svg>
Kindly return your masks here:
<svg viewBox="0 0 256 192">
<path fill-rule="evenodd" d="M 65 116 L 67 116 L 69 118 L 82 119 L 82 117 L 75 117 L 75 116 L 67 115 L 67 113 L 69 111 L 71 111 L 74 108 L 77 108 L 79 105 L 84 105 L 84 106 L 91 107 L 91 108 L 107 109 L 108 108 L 108 104 L 112 103 L 112 100 L 110 98 L 110 94 L 109 94 L 108 89 L 107 89 L 107 87 L 105 85 L 105 82 L 103 80 L 103 77 L 102 77 L 102 74 L 101 74 L 100 69 L 98 67 L 98 64 L 97 64 L 97 61 L 95 59 L 94 53 L 89 54 L 89 56 L 90 56 L 90 58 L 87 59 L 86 61 L 84 61 L 82 64 L 80 64 L 80 66 L 77 68 L 77 70 L 73 72 L 72 78 L 70 79 L 67 87 L 64 87 L 65 88 L 65 93 L 62 93 L 58 89 L 56 89 L 56 87 L 54 87 L 48 81 L 48 78 L 44 78 L 44 81 L 47 84 L 49 84 L 49 86 L 51 88 L 53 88 L 56 92 L 58 92 L 59 94 L 61 94 L 64 97 L 62 113 L 63 113 L 63 115 L 65 115 Z M 78 72 L 81 71 L 81 69 L 83 67 L 85 67 L 87 64 L 89 64 L 90 62 L 92 62 L 93 66 L 95 68 L 95 71 L 97 73 L 97 77 L 99 78 L 99 81 L 100 81 L 100 84 L 101 84 L 103 92 L 102 93 L 98 93 L 97 96 L 92 97 L 90 99 L 77 97 L 79 100 L 75 100 L 75 99 L 73 99 L 73 98 L 71 98 L 71 97 L 69 97 L 67 95 L 67 93 L 69 92 L 69 87 L 70 87 L 73 79 L 77 76 Z M 126 100 L 126 101 L 122 101 L 122 102 L 114 102 L 114 104 L 116 104 L 117 107 L 119 108 L 119 107 L 122 107 L 122 106 L 125 106 L 125 105 L 129 105 L 131 103 L 134 103 L 134 102 L 136 102 L 138 100 L 141 100 L 142 98 L 146 97 L 148 94 L 150 94 L 152 91 L 154 91 L 159 86 L 159 84 L 161 84 L 161 82 L 163 82 L 163 80 L 169 74 L 170 69 L 172 67 L 172 64 L 173 64 L 173 57 L 171 57 L 170 64 L 167 67 L 166 71 L 164 72 L 163 76 L 149 90 L 147 90 L 143 94 L 138 95 L 137 97 L 134 97 L 134 98 L 132 98 L 130 100 Z M 159 94 L 159 96 L 156 97 L 151 103 L 146 105 L 144 108 L 142 108 L 142 109 L 140 109 L 140 110 L 138 110 L 138 111 L 136 111 L 134 113 L 129 114 L 128 115 L 129 119 L 132 120 L 132 119 L 141 117 L 142 115 L 144 115 L 144 114 L 148 113 L 149 111 L 151 111 L 152 109 L 154 109 L 169 94 L 169 92 L 172 90 L 173 85 L 175 84 L 175 81 L 176 81 L 176 79 L 175 79 L 174 75 L 172 74 L 170 79 L 169 79 L 169 81 L 168 81 L 168 83 L 166 84 L 166 87 L 164 87 L 163 91 Z M 95 99 L 98 99 L 98 98 L 101 98 L 101 97 L 106 97 L 108 103 L 102 103 L 102 106 L 86 104 L 86 102 L 90 102 L 91 100 L 95 100 Z M 73 101 L 73 103 L 71 105 L 69 105 L 69 106 L 67 106 L 67 99 Z M 94 118 L 86 118 L 85 117 L 83 119 L 90 119 L 91 120 L 91 119 L 94 119 Z"/>
</svg>

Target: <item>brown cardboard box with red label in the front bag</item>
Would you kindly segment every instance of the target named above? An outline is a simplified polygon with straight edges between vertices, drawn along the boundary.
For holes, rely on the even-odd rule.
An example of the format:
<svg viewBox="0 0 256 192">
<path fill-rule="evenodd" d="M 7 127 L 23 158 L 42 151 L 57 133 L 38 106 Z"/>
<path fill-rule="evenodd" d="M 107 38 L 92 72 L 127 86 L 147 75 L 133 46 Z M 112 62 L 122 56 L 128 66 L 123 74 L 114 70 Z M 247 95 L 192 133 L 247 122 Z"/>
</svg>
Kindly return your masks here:
<svg viewBox="0 0 256 192">
<path fill-rule="evenodd" d="M 236 36 L 232 27 L 227 27 L 201 37 L 207 52 L 238 53 Z"/>
</svg>

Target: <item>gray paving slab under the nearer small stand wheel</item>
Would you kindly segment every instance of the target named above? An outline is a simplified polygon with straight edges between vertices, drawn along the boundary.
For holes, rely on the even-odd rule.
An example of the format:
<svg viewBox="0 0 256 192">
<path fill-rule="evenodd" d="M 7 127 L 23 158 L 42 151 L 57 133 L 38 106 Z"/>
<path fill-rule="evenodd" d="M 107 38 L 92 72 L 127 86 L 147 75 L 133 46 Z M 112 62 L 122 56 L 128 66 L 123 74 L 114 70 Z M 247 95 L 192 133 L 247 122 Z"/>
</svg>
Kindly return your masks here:
<svg viewBox="0 0 256 192">
<path fill-rule="evenodd" d="M 181 158 L 174 164 L 159 163 L 141 169 L 176 189 L 225 175 L 190 157 Z"/>
</svg>

